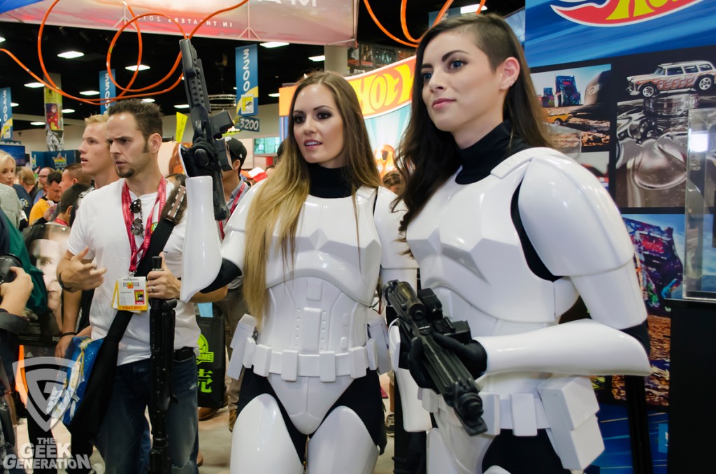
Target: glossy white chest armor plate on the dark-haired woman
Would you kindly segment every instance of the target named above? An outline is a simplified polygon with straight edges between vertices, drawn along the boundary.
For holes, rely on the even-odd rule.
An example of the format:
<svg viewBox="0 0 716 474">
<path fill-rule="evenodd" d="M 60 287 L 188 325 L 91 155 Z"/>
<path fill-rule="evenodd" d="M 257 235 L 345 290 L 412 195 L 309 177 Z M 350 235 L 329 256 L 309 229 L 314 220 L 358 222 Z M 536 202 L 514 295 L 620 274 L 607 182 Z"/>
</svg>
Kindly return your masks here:
<svg viewBox="0 0 716 474">
<path fill-rule="evenodd" d="M 513 224 L 513 195 L 528 165 L 505 160 L 468 185 L 450 179 L 407 231 L 422 286 L 435 291 L 445 315 L 467 320 L 473 337 L 554 324 L 556 309 L 574 303 L 574 291 L 556 291 L 529 269 Z"/>
</svg>

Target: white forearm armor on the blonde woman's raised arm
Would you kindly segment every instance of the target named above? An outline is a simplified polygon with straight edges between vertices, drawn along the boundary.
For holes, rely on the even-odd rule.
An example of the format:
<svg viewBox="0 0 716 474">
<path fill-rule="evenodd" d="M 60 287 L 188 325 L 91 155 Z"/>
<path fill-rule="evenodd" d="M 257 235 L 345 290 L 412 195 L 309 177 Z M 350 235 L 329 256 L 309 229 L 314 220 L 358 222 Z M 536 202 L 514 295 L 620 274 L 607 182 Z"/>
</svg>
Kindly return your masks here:
<svg viewBox="0 0 716 474">
<path fill-rule="evenodd" d="M 219 234 L 214 221 L 211 177 L 187 178 L 187 226 L 182 252 L 179 299 L 188 303 L 216 278 L 221 269 Z"/>
</svg>

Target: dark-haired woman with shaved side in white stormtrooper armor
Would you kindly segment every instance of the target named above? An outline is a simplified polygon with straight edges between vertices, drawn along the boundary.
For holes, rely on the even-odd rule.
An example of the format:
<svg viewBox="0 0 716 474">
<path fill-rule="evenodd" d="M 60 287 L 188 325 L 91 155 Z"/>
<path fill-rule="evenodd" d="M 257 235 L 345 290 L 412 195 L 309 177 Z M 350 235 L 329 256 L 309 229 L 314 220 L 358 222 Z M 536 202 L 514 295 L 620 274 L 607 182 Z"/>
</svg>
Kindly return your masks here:
<svg viewBox="0 0 716 474">
<path fill-rule="evenodd" d="M 521 45 L 499 16 L 433 26 L 417 48 L 412 97 L 397 159 L 401 231 L 422 286 L 445 316 L 470 324 L 473 341 L 438 342 L 475 377 L 487 427 L 469 436 L 422 390 L 437 425 L 428 473 L 583 470 L 604 448 L 588 376 L 650 371 L 619 212 L 589 171 L 549 147 Z M 559 324 L 579 296 L 591 318 Z M 431 387 L 421 344 L 408 346 L 412 378 Z M 406 375 L 401 392 L 415 383 Z M 403 402 L 405 413 L 420 403 Z"/>
</svg>

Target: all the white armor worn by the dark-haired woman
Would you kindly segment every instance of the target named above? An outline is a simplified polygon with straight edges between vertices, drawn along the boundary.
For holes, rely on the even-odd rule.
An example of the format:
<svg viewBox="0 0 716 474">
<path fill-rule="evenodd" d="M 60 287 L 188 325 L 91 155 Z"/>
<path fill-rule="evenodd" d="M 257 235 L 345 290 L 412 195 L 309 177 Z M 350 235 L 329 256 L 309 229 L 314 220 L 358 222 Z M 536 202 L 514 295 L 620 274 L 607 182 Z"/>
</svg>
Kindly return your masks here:
<svg viewBox="0 0 716 474">
<path fill-rule="evenodd" d="M 541 279 L 528 266 L 511 218 L 518 186 L 525 231 L 561 279 Z M 469 322 L 488 354 L 478 379 L 485 435 L 469 437 L 441 397 L 422 391 L 458 472 L 481 473 L 475 453 L 481 459 L 484 438 L 503 429 L 517 436 L 547 429 L 565 468 L 589 465 L 602 445 L 584 376 L 649 373 L 642 346 L 619 331 L 646 317 L 634 250 L 594 176 L 554 150 L 525 150 L 477 183 L 450 179 L 412 221 L 407 241 L 422 285 L 435 291 L 446 316 Z M 557 325 L 579 295 L 591 320 Z"/>
</svg>

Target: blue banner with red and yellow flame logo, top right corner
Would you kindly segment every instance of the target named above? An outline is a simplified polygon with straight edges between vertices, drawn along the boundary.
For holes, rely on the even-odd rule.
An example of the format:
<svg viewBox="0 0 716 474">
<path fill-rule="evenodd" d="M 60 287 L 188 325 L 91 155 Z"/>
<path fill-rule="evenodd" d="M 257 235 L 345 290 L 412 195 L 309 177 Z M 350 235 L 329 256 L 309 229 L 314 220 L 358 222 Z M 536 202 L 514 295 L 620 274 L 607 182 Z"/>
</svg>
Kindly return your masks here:
<svg viewBox="0 0 716 474">
<path fill-rule="evenodd" d="M 716 1 L 526 0 L 530 67 L 716 44 Z"/>
</svg>

